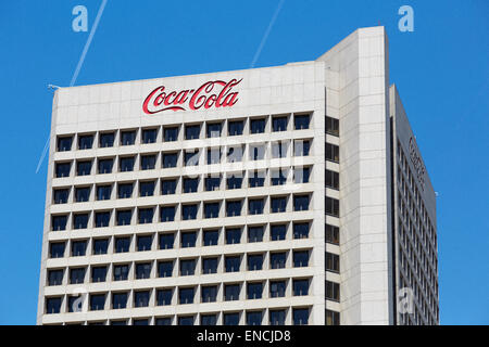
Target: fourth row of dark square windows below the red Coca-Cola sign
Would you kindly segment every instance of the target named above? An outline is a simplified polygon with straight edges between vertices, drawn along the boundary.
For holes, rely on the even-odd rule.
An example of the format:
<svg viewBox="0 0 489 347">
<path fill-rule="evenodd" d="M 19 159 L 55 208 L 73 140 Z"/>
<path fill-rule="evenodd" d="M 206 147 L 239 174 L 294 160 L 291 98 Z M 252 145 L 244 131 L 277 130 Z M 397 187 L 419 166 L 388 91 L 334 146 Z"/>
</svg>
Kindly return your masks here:
<svg viewBox="0 0 489 347">
<path fill-rule="evenodd" d="M 247 198 L 248 204 L 244 204 L 243 200 L 229 200 L 224 202 L 204 202 L 202 203 L 202 216 L 199 215 L 200 203 L 189 203 L 189 204 L 175 204 L 166 206 L 152 206 L 152 207 L 138 207 L 137 214 L 133 214 L 133 209 L 117 209 L 115 210 L 115 224 L 116 226 L 130 226 L 133 220 L 133 215 L 137 215 L 138 224 L 148 224 L 154 222 L 154 215 L 156 209 L 160 210 L 159 220 L 160 222 L 172 222 L 175 221 L 175 216 L 177 215 L 177 208 L 180 209 L 180 220 L 195 220 L 198 218 L 218 218 L 221 215 L 221 206 L 225 207 L 226 217 L 236 217 L 242 215 L 263 215 L 265 211 L 265 204 L 267 198 Z M 285 213 L 287 206 L 286 196 L 271 197 L 271 213 Z M 293 195 L 293 210 L 304 211 L 310 209 L 311 195 L 309 194 L 294 194 Z M 243 210 L 243 206 L 247 210 Z M 335 206 L 333 206 L 335 207 Z M 329 213 L 329 209 L 327 209 Z M 87 228 L 104 228 L 109 227 L 111 222 L 111 211 L 95 211 L 93 220 L 90 223 L 91 213 L 73 213 L 72 214 L 72 228 L 87 229 Z M 156 214 L 158 215 L 158 214 Z M 224 217 L 224 216 L 222 216 Z M 66 230 L 68 221 L 68 215 L 54 215 L 51 219 L 51 230 L 61 231 Z"/>
</svg>

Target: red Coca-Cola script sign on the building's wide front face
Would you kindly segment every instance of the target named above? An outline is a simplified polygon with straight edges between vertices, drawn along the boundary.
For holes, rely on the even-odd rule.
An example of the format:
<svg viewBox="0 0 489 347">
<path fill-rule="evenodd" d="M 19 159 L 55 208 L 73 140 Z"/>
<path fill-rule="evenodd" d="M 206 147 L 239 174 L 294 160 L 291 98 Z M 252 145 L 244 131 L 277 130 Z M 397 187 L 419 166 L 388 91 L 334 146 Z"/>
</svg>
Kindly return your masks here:
<svg viewBox="0 0 489 347">
<path fill-rule="evenodd" d="M 166 91 L 165 86 L 155 88 L 145 99 L 142 111 L 152 115 L 163 111 L 187 111 L 200 108 L 230 107 L 238 102 L 238 92 L 233 88 L 241 82 L 242 78 L 224 80 L 212 80 L 203 83 L 197 89 L 180 91 Z"/>
</svg>

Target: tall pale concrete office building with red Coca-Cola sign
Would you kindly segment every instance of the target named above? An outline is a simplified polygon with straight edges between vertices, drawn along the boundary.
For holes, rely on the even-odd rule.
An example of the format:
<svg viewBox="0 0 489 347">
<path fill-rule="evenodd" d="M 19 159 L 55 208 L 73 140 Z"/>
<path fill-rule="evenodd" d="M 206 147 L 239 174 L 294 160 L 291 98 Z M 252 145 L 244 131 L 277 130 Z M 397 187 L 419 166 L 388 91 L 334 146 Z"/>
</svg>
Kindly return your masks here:
<svg viewBox="0 0 489 347">
<path fill-rule="evenodd" d="M 383 27 L 316 61 L 58 89 L 38 324 L 437 324 Z"/>
</svg>

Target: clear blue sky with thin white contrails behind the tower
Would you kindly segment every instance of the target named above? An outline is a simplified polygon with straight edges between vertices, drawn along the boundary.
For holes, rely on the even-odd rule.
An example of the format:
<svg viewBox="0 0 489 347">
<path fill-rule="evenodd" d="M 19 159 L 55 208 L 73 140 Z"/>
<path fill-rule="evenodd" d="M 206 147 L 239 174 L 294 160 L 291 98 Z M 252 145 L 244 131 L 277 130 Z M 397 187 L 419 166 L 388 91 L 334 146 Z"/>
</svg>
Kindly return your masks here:
<svg viewBox="0 0 489 347">
<path fill-rule="evenodd" d="M 100 0 L 0 2 L 0 324 L 34 324 L 52 92 L 68 86 Z M 250 67 L 279 0 L 109 0 L 76 85 Z M 414 33 L 398 9 L 414 9 Z M 442 324 L 489 323 L 489 2 L 286 0 L 256 67 L 315 60 L 358 27 L 386 27 L 403 99 L 438 196 Z"/>
</svg>

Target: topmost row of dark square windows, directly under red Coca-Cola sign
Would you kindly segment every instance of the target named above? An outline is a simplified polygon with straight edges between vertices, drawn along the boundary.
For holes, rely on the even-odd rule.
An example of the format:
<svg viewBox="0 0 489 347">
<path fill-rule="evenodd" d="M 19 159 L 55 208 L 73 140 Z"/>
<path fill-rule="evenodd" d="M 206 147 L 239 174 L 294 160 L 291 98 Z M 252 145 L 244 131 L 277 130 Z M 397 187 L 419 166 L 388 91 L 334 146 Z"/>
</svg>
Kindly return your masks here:
<svg viewBox="0 0 489 347">
<path fill-rule="evenodd" d="M 266 131 L 265 117 L 251 118 L 249 133 L 264 133 Z M 309 129 L 311 121 L 311 115 L 293 115 L 293 129 L 302 130 Z M 217 138 L 222 136 L 242 136 L 246 126 L 246 119 L 227 120 L 227 133 L 224 131 L 224 121 L 208 121 L 204 124 L 186 124 L 184 127 L 180 125 L 163 126 L 162 140 L 164 142 L 178 141 L 180 129 L 184 128 L 184 139 L 195 140 L 202 137 L 202 129 L 205 129 L 206 138 Z M 272 131 L 287 131 L 289 124 L 288 116 L 273 116 L 272 117 Z M 335 132 L 335 125 L 330 125 L 333 128 L 330 131 Z M 337 125 L 336 125 L 337 128 Z M 328 127 L 329 129 L 329 127 Z M 146 128 L 140 131 L 139 142 L 141 144 L 155 143 L 159 141 L 160 127 Z M 120 131 L 120 145 L 134 145 L 138 137 L 139 130 L 128 129 Z M 117 131 L 103 131 L 98 134 L 99 147 L 112 147 L 114 146 Z M 58 152 L 71 151 L 73 147 L 74 136 L 60 136 L 58 137 L 57 149 Z M 161 141 L 161 140 L 160 140 Z M 79 133 L 77 134 L 77 150 L 89 150 L 95 146 L 96 133 Z"/>
</svg>

